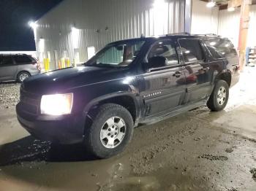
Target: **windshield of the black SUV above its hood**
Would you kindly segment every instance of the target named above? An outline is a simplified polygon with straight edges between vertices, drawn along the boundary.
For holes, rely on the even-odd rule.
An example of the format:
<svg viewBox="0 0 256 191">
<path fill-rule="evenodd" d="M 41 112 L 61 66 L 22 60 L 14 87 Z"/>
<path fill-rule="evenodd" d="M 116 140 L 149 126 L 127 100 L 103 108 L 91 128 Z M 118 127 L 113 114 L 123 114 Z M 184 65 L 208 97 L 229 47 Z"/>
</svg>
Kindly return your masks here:
<svg viewBox="0 0 256 191">
<path fill-rule="evenodd" d="M 140 52 L 144 40 L 108 44 L 97 53 L 87 66 L 129 66 Z"/>
</svg>

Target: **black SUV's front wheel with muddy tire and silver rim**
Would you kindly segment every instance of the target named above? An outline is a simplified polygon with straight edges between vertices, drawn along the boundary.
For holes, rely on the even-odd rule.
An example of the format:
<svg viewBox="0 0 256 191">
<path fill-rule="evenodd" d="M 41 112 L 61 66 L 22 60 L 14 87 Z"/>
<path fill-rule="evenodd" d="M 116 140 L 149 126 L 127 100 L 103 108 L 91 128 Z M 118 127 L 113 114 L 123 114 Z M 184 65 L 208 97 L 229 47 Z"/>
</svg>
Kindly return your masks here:
<svg viewBox="0 0 256 191">
<path fill-rule="evenodd" d="M 99 158 L 117 155 L 132 139 L 133 128 L 134 122 L 127 109 L 117 104 L 104 104 L 99 107 L 91 127 L 86 127 L 86 149 Z"/>
</svg>

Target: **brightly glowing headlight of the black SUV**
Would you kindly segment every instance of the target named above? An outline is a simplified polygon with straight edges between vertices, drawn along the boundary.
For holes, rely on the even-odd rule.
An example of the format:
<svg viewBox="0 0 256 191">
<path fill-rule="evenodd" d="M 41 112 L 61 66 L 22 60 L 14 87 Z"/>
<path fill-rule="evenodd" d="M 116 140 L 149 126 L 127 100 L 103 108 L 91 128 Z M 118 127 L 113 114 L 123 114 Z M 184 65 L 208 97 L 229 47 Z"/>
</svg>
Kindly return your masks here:
<svg viewBox="0 0 256 191">
<path fill-rule="evenodd" d="M 73 94 L 42 95 L 41 114 L 70 114 L 73 104 Z"/>
</svg>

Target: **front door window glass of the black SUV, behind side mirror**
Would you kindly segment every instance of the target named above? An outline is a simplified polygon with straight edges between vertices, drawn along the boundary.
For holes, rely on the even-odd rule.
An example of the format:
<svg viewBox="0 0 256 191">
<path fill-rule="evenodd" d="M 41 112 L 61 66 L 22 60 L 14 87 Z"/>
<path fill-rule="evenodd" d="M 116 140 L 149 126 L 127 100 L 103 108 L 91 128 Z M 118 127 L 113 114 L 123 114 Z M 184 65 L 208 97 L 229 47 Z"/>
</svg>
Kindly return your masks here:
<svg viewBox="0 0 256 191">
<path fill-rule="evenodd" d="M 151 50 L 148 52 L 148 60 L 157 56 L 166 59 L 166 66 L 178 64 L 176 47 L 170 41 L 157 42 L 151 47 Z"/>
</svg>

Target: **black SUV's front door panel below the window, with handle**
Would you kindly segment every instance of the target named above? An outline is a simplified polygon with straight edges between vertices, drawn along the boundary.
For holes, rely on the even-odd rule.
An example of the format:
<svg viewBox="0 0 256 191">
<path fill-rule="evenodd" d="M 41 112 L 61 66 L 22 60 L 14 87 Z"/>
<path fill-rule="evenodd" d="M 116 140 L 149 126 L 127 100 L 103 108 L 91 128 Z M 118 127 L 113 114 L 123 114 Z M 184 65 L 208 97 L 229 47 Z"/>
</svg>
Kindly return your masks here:
<svg viewBox="0 0 256 191">
<path fill-rule="evenodd" d="M 176 77 L 176 74 L 180 73 Z M 181 66 L 155 71 L 143 76 L 145 89 L 141 93 L 146 116 L 167 112 L 181 106 L 186 93 L 184 69 Z"/>
</svg>

